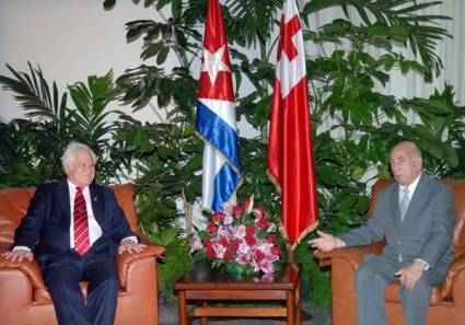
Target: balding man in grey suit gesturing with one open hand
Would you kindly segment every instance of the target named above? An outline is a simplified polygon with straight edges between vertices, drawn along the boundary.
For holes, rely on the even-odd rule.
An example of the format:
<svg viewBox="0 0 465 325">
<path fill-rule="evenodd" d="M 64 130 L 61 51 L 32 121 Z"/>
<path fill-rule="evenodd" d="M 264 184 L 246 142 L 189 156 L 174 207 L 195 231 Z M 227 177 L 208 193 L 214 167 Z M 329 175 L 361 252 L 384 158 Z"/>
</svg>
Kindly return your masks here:
<svg viewBox="0 0 465 325">
<path fill-rule="evenodd" d="M 337 237 L 318 232 L 319 237 L 309 243 L 330 251 L 368 245 L 384 237 L 387 244 L 383 253 L 365 255 L 356 274 L 358 324 L 387 325 L 384 290 L 388 282 L 400 281 L 404 324 L 421 325 L 432 287 L 444 280 L 454 258 L 454 195 L 447 186 L 421 172 L 421 152 L 412 142 L 395 146 L 390 164 L 397 184 L 380 193 L 365 225 Z"/>
</svg>

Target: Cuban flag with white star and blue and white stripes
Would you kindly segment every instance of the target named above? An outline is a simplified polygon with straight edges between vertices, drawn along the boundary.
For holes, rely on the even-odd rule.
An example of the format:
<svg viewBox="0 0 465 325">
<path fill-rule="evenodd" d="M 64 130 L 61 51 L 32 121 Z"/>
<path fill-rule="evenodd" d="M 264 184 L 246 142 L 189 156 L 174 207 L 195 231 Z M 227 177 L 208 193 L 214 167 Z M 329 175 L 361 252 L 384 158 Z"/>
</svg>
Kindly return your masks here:
<svg viewBox="0 0 465 325">
<path fill-rule="evenodd" d="M 221 211 L 224 204 L 235 205 L 235 193 L 243 176 L 231 63 L 218 0 L 208 2 L 196 131 L 205 142 L 202 208 Z"/>
</svg>

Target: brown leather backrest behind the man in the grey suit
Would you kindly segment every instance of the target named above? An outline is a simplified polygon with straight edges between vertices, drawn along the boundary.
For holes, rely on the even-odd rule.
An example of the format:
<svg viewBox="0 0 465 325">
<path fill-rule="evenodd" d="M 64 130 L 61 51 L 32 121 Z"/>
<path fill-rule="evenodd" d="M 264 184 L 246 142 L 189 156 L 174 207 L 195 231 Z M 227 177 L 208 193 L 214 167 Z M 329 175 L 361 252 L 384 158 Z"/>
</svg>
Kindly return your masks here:
<svg viewBox="0 0 465 325">
<path fill-rule="evenodd" d="M 455 246 L 455 256 L 458 256 L 465 253 L 465 179 L 442 179 L 440 182 L 451 186 L 455 194 L 455 229 L 453 244 Z M 373 212 L 379 193 L 392 183 L 392 179 L 379 179 L 376 184 L 374 184 L 369 216 Z"/>
</svg>

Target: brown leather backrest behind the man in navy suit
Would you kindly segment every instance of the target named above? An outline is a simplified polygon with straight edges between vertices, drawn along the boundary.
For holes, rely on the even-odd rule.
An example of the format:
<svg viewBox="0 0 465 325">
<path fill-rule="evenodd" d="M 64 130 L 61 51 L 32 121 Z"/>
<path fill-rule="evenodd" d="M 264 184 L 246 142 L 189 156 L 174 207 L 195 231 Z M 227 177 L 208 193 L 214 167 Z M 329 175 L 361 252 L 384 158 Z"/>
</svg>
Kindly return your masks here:
<svg viewBox="0 0 465 325">
<path fill-rule="evenodd" d="M 111 185 L 119 206 L 125 211 L 129 225 L 138 230 L 138 217 L 133 205 L 135 186 L 132 184 Z M 14 240 L 14 230 L 26 214 L 35 187 L 0 189 L 0 246 L 10 246 Z"/>
</svg>

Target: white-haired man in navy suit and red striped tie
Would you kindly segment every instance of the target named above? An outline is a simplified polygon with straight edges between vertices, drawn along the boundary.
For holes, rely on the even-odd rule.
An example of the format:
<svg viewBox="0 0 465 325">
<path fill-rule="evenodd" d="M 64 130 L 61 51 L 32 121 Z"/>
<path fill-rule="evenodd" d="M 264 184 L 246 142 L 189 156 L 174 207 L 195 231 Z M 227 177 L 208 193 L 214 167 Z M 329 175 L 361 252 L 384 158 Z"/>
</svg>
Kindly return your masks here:
<svg viewBox="0 0 465 325">
<path fill-rule="evenodd" d="M 116 254 L 138 243 L 113 191 L 93 184 L 95 154 L 71 142 L 61 158 L 67 179 L 39 186 L 16 229 L 11 260 L 37 259 L 61 325 L 112 325 L 118 274 Z M 79 281 L 89 281 L 84 301 Z"/>
</svg>

